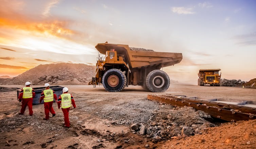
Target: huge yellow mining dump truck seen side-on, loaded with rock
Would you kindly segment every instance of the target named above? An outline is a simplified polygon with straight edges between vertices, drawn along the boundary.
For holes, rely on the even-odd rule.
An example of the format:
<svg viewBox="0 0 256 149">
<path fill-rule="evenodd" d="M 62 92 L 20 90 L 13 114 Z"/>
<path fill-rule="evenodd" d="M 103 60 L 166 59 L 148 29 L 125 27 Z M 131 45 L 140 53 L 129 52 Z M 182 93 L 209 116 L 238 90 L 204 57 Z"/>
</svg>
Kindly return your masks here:
<svg viewBox="0 0 256 149">
<path fill-rule="evenodd" d="M 96 73 L 89 84 L 103 87 L 109 92 L 122 91 L 128 85 L 139 85 L 151 92 L 164 92 L 170 78 L 162 70 L 182 60 L 182 53 L 154 52 L 132 48 L 126 44 L 98 43 Z"/>
</svg>

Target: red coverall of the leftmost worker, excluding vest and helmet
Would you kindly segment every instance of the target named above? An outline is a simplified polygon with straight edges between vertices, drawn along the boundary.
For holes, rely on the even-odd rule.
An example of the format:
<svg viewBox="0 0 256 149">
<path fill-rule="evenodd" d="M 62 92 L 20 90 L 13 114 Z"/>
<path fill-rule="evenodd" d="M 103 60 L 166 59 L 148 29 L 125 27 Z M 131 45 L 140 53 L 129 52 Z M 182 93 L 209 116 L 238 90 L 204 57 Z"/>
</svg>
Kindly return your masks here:
<svg viewBox="0 0 256 149">
<path fill-rule="evenodd" d="M 29 87 L 29 86 L 27 86 Z M 23 96 L 23 89 L 20 91 L 19 94 L 19 101 L 21 101 L 21 109 L 20 109 L 20 113 L 19 114 L 24 114 L 25 110 L 26 110 L 26 106 L 29 107 L 29 115 L 32 116 L 33 115 L 33 110 L 32 110 L 32 104 L 33 104 L 33 98 L 35 98 L 35 91 L 34 89 L 32 89 L 32 98 L 22 98 Z"/>
</svg>

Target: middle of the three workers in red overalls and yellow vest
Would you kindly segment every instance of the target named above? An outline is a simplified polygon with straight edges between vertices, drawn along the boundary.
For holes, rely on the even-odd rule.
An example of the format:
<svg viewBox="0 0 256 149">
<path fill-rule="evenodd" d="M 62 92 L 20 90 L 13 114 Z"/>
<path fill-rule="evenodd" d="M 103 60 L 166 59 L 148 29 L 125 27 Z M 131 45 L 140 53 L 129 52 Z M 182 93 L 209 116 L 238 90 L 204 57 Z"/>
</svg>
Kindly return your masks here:
<svg viewBox="0 0 256 149">
<path fill-rule="evenodd" d="M 45 113 L 45 118 L 43 118 L 43 119 L 48 120 L 49 112 L 52 113 L 52 117 L 54 117 L 56 115 L 55 111 L 52 107 L 52 104 L 53 104 L 53 98 L 55 99 L 55 101 L 57 101 L 57 95 L 54 93 L 54 91 L 52 89 L 50 89 L 49 83 L 45 83 L 44 87 L 45 87 L 45 90 L 43 90 L 41 93 L 39 103 L 41 103 L 41 101 L 43 100 L 44 113 Z"/>
</svg>

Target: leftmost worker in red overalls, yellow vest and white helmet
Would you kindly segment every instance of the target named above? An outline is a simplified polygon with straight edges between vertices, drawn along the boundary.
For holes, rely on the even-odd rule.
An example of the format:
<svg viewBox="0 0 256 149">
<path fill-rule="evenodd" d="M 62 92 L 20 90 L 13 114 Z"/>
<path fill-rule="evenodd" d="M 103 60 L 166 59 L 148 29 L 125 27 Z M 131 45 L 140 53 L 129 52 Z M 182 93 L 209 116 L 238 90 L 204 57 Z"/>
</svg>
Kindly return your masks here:
<svg viewBox="0 0 256 149">
<path fill-rule="evenodd" d="M 20 115 L 23 115 L 25 110 L 26 110 L 26 106 L 29 107 L 29 115 L 32 116 L 33 115 L 33 110 L 32 110 L 32 104 L 33 104 L 33 98 L 35 98 L 35 91 L 34 89 L 32 89 L 32 87 L 30 87 L 30 82 L 26 82 L 24 88 L 22 88 L 22 90 L 20 91 L 19 94 L 19 101 L 21 102 L 21 109 L 20 109 Z"/>
</svg>

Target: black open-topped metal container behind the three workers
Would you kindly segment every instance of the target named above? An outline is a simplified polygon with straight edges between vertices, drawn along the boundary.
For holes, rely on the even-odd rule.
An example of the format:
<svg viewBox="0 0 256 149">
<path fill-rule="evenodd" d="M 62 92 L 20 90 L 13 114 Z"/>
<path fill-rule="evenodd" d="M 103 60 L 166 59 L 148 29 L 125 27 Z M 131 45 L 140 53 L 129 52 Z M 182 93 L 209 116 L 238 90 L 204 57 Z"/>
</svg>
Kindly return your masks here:
<svg viewBox="0 0 256 149">
<path fill-rule="evenodd" d="M 57 95 L 57 98 L 59 97 L 59 95 L 62 94 L 62 89 L 64 87 L 62 86 L 50 86 L 50 89 L 52 89 L 55 94 Z M 39 104 L 39 100 L 40 100 L 40 97 L 41 97 L 41 93 L 43 90 L 45 90 L 44 87 L 38 87 L 38 88 L 33 88 L 35 90 L 35 93 L 36 93 L 36 96 L 35 98 L 33 98 L 33 105 L 38 105 Z M 21 89 L 17 89 L 17 98 L 19 97 L 19 94 L 20 94 L 20 91 Z M 53 100 L 53 102 L 55 102 L 55 99 Z M 43 104 L 43 100 L 40 104 Z"/>
</svg>

